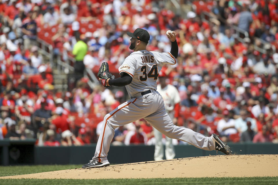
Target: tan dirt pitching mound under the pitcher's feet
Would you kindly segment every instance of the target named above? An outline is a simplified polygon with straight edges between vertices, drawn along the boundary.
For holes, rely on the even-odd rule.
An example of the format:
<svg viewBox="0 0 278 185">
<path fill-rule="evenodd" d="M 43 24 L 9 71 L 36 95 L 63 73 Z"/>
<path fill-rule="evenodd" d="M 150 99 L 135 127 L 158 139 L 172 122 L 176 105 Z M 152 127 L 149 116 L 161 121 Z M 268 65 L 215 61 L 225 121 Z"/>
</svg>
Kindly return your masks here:
<svg viewBox="0 0 278 185">
<path fill-rule="evenodd" d="M 174 177 L 278 176 L 278 155 L 231 155 L 111 165 L 94 169 L 68 169 L 0 178 L 107 179 Z"/>
</svg>

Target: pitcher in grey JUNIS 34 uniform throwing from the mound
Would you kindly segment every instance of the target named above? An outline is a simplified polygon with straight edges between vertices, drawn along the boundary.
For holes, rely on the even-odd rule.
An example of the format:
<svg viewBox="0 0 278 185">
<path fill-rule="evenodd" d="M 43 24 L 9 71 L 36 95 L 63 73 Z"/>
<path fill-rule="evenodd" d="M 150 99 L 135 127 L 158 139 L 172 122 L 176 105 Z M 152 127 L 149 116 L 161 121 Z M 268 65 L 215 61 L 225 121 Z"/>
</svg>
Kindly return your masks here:
<svg viewBox="0 0 278 185">
<path fill-rule="evenodd" d="M 219 150 L 227 155 L 231 154 L 230 147 L 216 134 L 206 137 L 191 129 L 174 125 L 165 110 L 162 96 L 156 91 L 156 80 L 162 66 L 176 63 L 178 57 L 176 33 L 172 31 L 166 33 L 171 41 L 171 51 L 168 53 L 146 50 L 150 35 L 145 29 L 137 28 L 133 33 L 127 32 L 127 35 L 131 37 L 129 49 L 134 52 L 119 67 L 120 77 L 106 78 L 107 73 L 104 72 L 99 80 L 104 86 L 125 86 L 131 99 L 105 115 L 95 155 L 82 168 L 109 166 L 107 154 L 114 130 L 141 118 L 169 138 L 185 141 L 200 149 Z"/>
</svg>

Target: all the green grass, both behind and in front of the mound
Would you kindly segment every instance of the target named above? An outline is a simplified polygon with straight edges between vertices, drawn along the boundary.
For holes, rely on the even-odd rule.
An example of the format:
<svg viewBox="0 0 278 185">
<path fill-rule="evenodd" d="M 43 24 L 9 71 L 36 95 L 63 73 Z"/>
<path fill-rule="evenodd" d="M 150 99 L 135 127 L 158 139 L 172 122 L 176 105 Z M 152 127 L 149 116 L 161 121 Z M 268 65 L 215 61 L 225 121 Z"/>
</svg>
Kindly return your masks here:
<svg viewBox="0 0 278 185">
<path fill-rule="evenodd" d="M 34 165 L 34 166 L 0 166 L 0 176 L 23 175 L 64 169 L 80 168 L 82 165 Z M 178 185 L 178 184 L 240 184 L 265 185 L 278 184 L 278 177 L 226 177 L 226 178 L 153 178 L 153 179 L 0 179 L 0 184 L 120 184 L 120 185 Z"/>
</svg>

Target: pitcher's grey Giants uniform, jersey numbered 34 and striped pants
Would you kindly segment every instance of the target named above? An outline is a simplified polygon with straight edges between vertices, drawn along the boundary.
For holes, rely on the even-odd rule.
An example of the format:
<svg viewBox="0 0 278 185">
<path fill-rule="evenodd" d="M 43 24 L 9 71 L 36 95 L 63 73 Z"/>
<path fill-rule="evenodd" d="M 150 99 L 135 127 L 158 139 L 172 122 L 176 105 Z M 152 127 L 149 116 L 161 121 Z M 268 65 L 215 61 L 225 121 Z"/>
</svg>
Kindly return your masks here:
<svg viewBox="0 0 278 185">
<path fill-rule="evenodd" d="M 191 129 L 174 125 L 165 110 L 162 96 L 156 91 L 156 80 L 162 66 L 175 63 L 175 57 L 171 53 L 147 50 L 133 52 L 125 59 L 119 67 L 119 72 L 120 74 L 128 73 L 133 78 L 132 82 L 125 86 L 131 99 L 104 117 L 103 132 L 98 138 L 94 160 L 109 164 L 107 154 L 114 130 L 141 118 L 169 138 L 188 142 L 204 150 L 215 149 L 211 137 L 205 137 Z M 148 94 L 141 95 L 141 92 L 148 90 L 150 90 Z"/>
</svg>

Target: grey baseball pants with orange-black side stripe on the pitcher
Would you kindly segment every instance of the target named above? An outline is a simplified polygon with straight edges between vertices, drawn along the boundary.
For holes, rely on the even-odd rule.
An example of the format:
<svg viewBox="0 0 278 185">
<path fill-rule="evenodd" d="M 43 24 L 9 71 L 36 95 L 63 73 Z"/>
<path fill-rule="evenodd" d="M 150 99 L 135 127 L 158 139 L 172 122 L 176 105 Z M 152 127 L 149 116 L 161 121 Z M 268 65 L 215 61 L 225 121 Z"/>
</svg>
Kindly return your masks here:
<svg viewBox="0 0 278 185">
<path fill-rule="evenodd" d="M 98 138 L 93 159 L 102 163 L 108 162 L 107 154 L 115 134 L 114 130 L 119 126 L 134 122 L 141 118 L 144 118 L 154 128 L 169 138 L 185 141 L 204 150 L 215 149 L 211 137 L 205 137 L 191 129 L 174 125 L 164 108 L 161 95 L 157 91 L 151 90 L 151 93 L 132 98 L 122 103 L 109 114 L 106 114 L 103 120 L 103 132 Z"/>
</svg>

